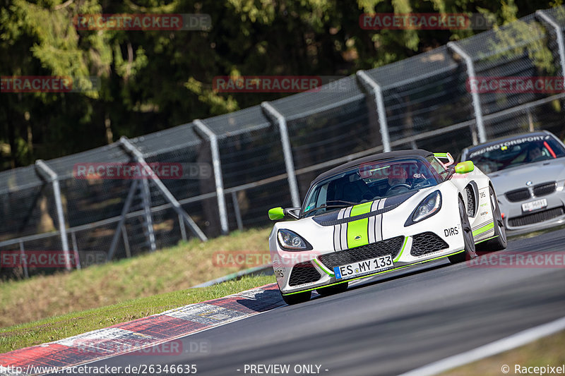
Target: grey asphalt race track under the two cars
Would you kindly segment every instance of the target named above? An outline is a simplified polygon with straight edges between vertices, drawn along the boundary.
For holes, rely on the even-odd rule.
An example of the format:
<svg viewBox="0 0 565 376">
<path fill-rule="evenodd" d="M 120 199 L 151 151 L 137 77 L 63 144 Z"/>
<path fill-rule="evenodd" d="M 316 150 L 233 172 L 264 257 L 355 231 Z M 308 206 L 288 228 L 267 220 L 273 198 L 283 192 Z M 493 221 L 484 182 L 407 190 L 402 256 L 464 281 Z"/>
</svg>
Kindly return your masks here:
<svg viewBox="0 0 565 376">
<path fill-rule="evenodd" d="M 564 238 L 565 230 L 549 232 L 510 241 L 508 250 L 562 252 Z M 124 355 L 90 365 L 193 364 L 197 375 L 310 375 L 316 367 L 295 373 L 295 366 L 320 365 L 321 375 L 398 375 L 564 315 L 563 267 L 436 263 L 182 339 L 184 348 L 206 344 L 203 353 Z M 290 370 L 246 369 L 275 364 Z"/>
</svg>

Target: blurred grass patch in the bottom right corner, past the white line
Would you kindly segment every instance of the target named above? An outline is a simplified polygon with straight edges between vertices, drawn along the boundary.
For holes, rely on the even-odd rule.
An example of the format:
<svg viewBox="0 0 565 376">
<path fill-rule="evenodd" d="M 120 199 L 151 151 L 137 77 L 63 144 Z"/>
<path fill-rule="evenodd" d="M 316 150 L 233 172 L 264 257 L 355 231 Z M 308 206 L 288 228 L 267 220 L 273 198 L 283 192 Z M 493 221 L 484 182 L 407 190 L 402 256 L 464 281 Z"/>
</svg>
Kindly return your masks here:
<svg viewBox="0 0 565 376">
<path fill-rule="evenodd" d="M 565 332 L 547 336 L 513 350 L 489 356 L 482 360 L 463 365 L 453 370 L 441 373 L 442 376 L 500 376 L 500 375 L 528 375 L 528 372 L 516 372 L 516 365 L 521 367 L 561 367 L 565 364 Z M 502 371 L 502 366 L 509 366 L 509 372 Z M 530 375 L 539 373 L 530 372 Z"/>
</svg>

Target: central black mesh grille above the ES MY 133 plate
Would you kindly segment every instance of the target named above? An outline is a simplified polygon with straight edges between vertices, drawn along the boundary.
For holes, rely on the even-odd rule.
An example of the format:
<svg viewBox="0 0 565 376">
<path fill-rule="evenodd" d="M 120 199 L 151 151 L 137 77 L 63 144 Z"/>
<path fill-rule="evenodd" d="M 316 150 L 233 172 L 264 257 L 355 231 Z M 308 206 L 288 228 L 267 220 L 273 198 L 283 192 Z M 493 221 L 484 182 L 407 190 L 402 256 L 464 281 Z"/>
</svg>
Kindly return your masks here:
<svg viewBox="0 0 565 376">
<path fill-rule="evenodd" d="M 404 242 L 404 236 L 396 236 L 396 238 L 386 239 L 385 241 L 377 241 L 367 245 L 347 250 L 339 250 L 334 253 L 327 253 L 319 257 L 323 265 L 333 270 L 334 267 L 351 264 L 369 258 L 380 257 L 383 255 L 391 255 L 396 257 Z"/>
</svg>

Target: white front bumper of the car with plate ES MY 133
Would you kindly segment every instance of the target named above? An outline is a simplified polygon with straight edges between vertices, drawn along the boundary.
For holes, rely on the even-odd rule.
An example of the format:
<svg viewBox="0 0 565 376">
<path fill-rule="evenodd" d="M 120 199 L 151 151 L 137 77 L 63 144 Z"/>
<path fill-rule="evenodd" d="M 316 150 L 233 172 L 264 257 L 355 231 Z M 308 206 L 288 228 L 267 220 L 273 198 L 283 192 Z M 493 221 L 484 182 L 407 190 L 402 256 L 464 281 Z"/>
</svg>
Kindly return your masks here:
<svg viewBox="0 0 565 376">
<path fill-rule="evenodd" d="M 387 236 L 385 239 L 346 250 L 334 250 L 328 242 L 324 242 L 326 238 L 333 239 L 331 232 L 326 236 L 321 234 L 319 239 L 307 238 L 307 241 L 314 246 L 314 250 L 303 252 L 282 250 L 276 241 L 276 229 L 273 229 L 269 239 L 270 255 L 281 293 L 310 291 L 323 286 L 371 277 L 463 251 L 460 221 L 456 219 L 454 222 L 453 215 L 448 210 L 441 210 L 433 217 L 408 227 L 404 227 L 404 222 L 405 218 L 395 218 L 394 214 L 389 214 L 387 217 L 385 214 L 382 231 L 383 237 Z M 322 232 L 324 229 L 319 227 L 318 230 Z M 333 267 L 383 255 L 391 255 L 393 258 L 393 266 L 390 269 L 344 279 L 335 277 Z"/>
</svg>

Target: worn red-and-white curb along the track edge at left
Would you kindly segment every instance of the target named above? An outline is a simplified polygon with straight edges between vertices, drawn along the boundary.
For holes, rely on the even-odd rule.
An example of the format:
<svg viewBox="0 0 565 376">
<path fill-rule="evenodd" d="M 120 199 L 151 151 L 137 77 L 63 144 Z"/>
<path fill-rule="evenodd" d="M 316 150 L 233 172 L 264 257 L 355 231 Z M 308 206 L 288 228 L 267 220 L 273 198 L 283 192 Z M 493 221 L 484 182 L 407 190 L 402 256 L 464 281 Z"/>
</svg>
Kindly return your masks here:
<svg viewBox="0 0 565 376">
<path fill-rule="evenodd" d="M 241 320 L 285 305 L 277 284 L 223 298 L 185 305 L 164 313 L 122 322 L 59 341 L 0 354 L 0 375 L 28 375 L 30 366 L 70 367 L 124 353 Z M 174 348 L 174 351 L 177 351 Z M 14 372 L 21 370 L 21 372 Z"/>
</svg>

